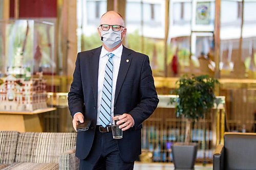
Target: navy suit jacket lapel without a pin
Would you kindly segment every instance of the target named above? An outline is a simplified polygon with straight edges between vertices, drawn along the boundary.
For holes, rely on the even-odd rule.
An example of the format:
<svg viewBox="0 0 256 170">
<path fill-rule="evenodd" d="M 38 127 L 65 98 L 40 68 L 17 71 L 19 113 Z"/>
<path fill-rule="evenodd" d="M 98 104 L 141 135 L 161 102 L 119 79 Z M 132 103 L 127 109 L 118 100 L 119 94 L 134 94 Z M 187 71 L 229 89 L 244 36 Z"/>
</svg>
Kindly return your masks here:
<svg viewBox="0 0 256 170">
<path fill-rule="evenodd" d="M 94 96 L 94 101 L 96 105 L 98 100 L 98 74 L 99 74 L 98 69 L 99 69 L 99 55 L 101 52 L 101 47 L 96 48 L 94 51 L 92 51 L 92 55 L 89 58 L 91 80 L 87 80 L 92 82 L 93 96 Z"/>
</svg>

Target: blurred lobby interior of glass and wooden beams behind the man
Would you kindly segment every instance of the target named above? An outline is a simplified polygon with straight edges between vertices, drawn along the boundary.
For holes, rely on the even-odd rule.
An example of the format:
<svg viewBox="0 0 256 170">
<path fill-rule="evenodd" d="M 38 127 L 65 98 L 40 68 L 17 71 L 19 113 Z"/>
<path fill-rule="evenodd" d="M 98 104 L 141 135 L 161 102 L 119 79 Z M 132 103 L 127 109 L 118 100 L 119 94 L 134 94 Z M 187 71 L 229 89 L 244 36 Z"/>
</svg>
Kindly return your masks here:
<svg viewBox="0 0 256 170">
<path fill-rule="evenodd" d="M 56 108 L 37 115 L 38 131 L 74 132 L 67 93 L 76 55 L 101 45 L 100 17 L 118 11 L 127 28 L 123 44 L 150 57 L 163 102 L 184 74 L 219 80 L 222 107 L 200 119 L 192 137 L 197 162 L 212 163 L 224 132 L 256 132 L 255 9 L 256 0 L 0 0 L 0 78 L 23 47 L 32 76 L 42 71 L 47 80 L 48 106 Z M 184 119 L 161 103 L 143 123 L 140 161 L 172 161 L 169 146 L 184 140 L 184 129 Z"/>
</svg>

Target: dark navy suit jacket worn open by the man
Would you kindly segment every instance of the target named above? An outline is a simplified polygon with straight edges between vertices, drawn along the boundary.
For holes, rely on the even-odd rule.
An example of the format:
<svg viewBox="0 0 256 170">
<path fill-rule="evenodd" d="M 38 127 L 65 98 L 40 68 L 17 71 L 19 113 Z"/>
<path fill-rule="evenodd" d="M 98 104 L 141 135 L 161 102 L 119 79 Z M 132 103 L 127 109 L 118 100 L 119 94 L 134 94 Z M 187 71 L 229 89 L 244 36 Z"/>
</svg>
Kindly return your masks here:
<svg viewBox="0 0 256 170">
<path fill-rule="evenodd" d="M 81 112 L 91 119 L 88 131 L 78 132 L 76 156 L 85 159 L 92 147 L 98 98 L 98 67 L 101 47 L 78 53 L 68 101 L 72 117 Z M 141 154 L 142 122 L 156 109 L 157 98 L 148 56 L 123 47 L 116 83 L 114 114 L 131 114 L 135 125 L 117 139 L 118 150 L 125 162 L 133 162 Z"/>
</svg>

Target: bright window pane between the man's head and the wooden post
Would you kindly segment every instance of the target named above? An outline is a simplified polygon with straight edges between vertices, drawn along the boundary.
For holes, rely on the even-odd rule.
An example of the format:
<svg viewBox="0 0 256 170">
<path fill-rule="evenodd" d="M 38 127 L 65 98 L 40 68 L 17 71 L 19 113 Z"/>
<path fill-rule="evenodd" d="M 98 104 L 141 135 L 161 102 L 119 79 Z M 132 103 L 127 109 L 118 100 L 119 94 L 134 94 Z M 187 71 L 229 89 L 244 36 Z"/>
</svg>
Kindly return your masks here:
<svg viewBox="0 0 256 170">
<path fill-rule="evenodd" d="M 163 76 L 165 1 L 127 0 L 125 12 L 126 45 L 148 55 L 153 75 Z"/>
</svg>

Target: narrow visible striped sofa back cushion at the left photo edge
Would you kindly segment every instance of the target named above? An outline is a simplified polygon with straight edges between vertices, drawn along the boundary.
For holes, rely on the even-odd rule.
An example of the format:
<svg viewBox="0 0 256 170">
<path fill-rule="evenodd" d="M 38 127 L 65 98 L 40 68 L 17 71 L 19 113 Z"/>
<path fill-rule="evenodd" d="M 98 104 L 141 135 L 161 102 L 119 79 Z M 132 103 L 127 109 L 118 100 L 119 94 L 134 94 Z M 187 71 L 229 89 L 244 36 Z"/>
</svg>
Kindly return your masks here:
<svg viewBox="0 0 256 170">
<path fill-rule="evenodd" d="M 18 132 L 0 131 L 0 163 L 14 162 Z"/>
</svg>

